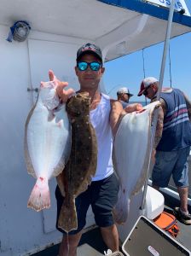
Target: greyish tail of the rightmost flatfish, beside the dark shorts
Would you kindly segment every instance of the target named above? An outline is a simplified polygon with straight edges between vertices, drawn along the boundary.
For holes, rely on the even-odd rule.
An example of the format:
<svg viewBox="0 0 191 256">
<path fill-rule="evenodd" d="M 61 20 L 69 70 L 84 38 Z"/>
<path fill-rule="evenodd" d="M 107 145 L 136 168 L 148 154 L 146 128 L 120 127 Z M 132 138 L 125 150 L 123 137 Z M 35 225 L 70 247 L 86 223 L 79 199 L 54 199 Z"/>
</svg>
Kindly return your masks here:
<svg viewBox="0 0 191 256">
<path fill-rule="evenodd" d="M 119 189 L 119 196 L 116 206 L 113 208 L 113 218 L 117 224 L 124 224 L 130 211 L 130 197 L 124 189 Z"/>
</svg>

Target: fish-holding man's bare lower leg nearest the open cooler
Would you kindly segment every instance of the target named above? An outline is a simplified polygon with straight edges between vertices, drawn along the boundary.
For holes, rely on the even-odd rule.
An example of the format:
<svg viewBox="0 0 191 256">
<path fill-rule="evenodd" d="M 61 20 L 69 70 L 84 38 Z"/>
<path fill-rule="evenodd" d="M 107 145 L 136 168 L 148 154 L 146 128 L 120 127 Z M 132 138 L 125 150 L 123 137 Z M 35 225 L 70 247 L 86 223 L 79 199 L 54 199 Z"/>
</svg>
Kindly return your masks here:
<svg viewBox="0 0 191 256">
<path fill-rule="evenodd" d="M 110 227 L 101 228 L 101 235 L 109 249 L 113 252 L 119 251 L 119 234 L 115 224 Z"/>
</svg>

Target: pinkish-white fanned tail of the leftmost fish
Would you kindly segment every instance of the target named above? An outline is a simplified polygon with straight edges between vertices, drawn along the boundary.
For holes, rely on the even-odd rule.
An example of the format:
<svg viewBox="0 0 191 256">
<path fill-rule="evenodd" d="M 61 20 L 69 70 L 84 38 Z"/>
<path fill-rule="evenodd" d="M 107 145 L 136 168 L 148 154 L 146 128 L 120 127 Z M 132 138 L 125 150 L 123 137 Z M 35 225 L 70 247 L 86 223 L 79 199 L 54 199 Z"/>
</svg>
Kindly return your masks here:
<svg viewBox="0 0 191 256">
<path fill-rule="evenodd" d="M 50 207 L 49 183 L 44 177 L 38 177 L 29 197 L 27 207 L 37 212 Z"/>
</svg>

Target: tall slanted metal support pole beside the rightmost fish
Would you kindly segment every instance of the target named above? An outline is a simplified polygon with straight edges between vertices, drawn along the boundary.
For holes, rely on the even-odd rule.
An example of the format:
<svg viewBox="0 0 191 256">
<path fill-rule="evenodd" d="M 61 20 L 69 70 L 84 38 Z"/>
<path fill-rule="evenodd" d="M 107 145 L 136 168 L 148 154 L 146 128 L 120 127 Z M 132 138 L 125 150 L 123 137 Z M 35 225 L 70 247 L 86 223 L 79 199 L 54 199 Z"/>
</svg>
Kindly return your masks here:
<svg viewBox="0 0 191 256">
<path fill-rule="evenodd" d="M 157 101 L 159 101 L 159 99 L 160 99 L 160 92 L 162 90 L 162 84 L 163 84 L 164 73 L 165 73 L 166 52 L 169 48 L 169 42 L 170 42 L 170 37 L 171 37 L 171 24 L 172 24 L 174 9 L 175 9 L 175 0 L 171 0 L 171 7 L 170 7 L 170 11 L 169 11 L 168 24 L 167 24 L 166 35 L 165 35 L 163 58 L 162 58 L 160 74 L 159 74 L 159 88 L 157 91 Z M 159 111 L 155 111 L 154 115 L 153 115 L 153 127 L 152 127 L 152 137 L 151 137 L 152 149 L 153 149 L 157 120 L 158 120 L 158 114 L 159 114 Z M 147 190 L 148 190 L 149 173 L 151 173 L 153 171 L 153 163 L 151 161 L 152 149 L 151 149 L 151 152 L 149 155 L 148 172 L 147 172 L 147 177 L 146 177 L 146 181 L 144 184 L 144 190 L 143 190 L 143 195 L 142 195 L 142 206 L 140 207 L 140 209 L 142 211 L 145 209 L 145 201 L 146 201 L 146 195 L 147 195 Z"/>
</svg>

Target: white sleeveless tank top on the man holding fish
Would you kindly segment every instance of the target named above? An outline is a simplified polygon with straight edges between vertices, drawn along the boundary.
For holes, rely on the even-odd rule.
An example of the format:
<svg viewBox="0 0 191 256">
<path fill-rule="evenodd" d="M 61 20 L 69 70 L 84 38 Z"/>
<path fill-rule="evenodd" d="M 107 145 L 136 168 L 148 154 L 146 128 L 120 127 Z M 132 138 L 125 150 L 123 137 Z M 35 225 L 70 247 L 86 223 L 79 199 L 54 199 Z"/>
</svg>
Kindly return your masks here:
<svg viewBox="0 0 191 256">
<path fill-rule="evenodd" d="M 101 102 L 96 109 L 90 111 L 90 122 L 96 130 L 98 148 L 96 175 L 92 181 L 101 180 L 113 173 L 113 135 L 109 124 L 110 110 L 109 96 L 101 94 Z"/>
</svg>

